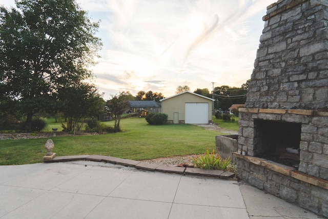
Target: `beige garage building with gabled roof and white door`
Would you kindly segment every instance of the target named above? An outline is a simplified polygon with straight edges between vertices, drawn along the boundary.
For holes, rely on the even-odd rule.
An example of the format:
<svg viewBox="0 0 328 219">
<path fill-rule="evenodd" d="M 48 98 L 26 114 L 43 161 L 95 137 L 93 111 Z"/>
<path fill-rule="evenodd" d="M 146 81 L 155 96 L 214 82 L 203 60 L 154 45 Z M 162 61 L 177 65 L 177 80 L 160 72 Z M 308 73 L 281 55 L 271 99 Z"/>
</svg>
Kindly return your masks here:
<svg viewBox="0 0 328 219">
<path fill-rule="evenodd" d="M 208 124 L 212 121 L 214 99 L 185 91 L 163 98 L 162 113 L 168 115 L 168 123 Z"/>
</svg>

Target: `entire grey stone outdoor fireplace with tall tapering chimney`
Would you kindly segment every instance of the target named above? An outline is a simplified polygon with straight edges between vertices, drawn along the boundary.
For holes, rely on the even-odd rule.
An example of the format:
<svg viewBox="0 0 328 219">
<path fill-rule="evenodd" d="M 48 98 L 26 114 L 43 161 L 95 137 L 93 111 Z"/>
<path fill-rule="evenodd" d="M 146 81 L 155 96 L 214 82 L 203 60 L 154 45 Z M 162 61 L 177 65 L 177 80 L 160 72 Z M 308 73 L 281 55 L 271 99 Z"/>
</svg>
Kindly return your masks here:
<svg viewBox="0 0 328 219">
<path fill-rule="evenodd" d="M 263 21 L 237 176 L 328 217 L 328 1 L 279 0 Z"/>
</svg>

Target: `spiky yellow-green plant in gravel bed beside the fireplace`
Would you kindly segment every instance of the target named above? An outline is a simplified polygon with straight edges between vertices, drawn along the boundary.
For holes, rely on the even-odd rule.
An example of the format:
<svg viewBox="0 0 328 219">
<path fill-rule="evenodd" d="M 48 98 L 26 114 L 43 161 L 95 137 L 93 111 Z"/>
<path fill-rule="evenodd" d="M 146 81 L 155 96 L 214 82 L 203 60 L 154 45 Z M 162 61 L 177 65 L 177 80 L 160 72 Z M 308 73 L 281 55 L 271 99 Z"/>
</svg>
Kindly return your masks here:
<svg viewBox="0 0 328 219">
<path fill-rule="evenodd" d="M 199 155 L 196 158 L 190 158 L 194 162 L 195 168 L 209 170 L 226 170 L 231 163 L 230 157 L 223 159 L 219 154 L 209 150 L 204 155 Z"/>
</svg>

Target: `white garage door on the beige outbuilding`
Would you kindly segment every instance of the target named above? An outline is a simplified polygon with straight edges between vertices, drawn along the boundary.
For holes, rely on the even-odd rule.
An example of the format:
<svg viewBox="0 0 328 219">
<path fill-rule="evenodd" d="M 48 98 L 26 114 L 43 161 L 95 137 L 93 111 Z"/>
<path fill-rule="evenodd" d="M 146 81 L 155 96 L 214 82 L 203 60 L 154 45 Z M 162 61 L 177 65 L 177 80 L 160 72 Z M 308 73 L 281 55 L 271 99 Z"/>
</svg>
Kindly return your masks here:
<svg viewBox="0 0 328 219">
<path fill-rule="evenodd" d="M 207 124 L 209 123 L 209 104 L 208 103 L 186 103 L 187 124 Z"/>
</svg>

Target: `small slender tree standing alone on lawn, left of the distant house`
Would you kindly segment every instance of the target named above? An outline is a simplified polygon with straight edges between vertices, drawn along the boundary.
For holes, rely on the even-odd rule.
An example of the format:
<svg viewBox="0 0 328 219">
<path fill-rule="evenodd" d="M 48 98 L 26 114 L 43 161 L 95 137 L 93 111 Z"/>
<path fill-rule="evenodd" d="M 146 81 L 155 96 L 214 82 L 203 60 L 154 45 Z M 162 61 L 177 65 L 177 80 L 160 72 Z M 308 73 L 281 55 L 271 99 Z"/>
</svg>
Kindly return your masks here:
<svg viewBox="0 0 328 219">
<path fill-rule="evenodd" d="M 120 94 L 112 96 L 112 99 L 107 101 L 106 106 L 108 112 L 112 115 L 115 121 L 114 129 L 119 131 L 121 115 L 127 110 L 127 107 L 129 106 L 129 101 L 126 100 L 126 95 Z"/>
</svg>

